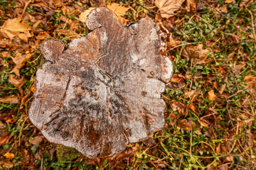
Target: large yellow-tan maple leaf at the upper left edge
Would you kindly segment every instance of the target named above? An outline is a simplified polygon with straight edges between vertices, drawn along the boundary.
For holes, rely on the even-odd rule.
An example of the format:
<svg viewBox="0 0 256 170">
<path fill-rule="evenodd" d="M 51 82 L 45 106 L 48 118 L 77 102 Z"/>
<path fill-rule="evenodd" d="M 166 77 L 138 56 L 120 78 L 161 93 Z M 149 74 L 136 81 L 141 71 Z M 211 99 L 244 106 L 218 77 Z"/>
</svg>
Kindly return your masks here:
<svg viewBox="0 0 256 170">
<path fill-rule="evenodd" d="M 28 26 L 26 23 L 22 23 L 21 18 L 14 18 L 5 21 L 3 26 L 1 26 L 0 32 L 4 38 L 12 40 L 20 33 L 25 33 L 24 35 L 26 35 L 27 38 L 30 38 L 31 34 L 28 30 L 31 30 L 31 26 Z"/>
</svg>

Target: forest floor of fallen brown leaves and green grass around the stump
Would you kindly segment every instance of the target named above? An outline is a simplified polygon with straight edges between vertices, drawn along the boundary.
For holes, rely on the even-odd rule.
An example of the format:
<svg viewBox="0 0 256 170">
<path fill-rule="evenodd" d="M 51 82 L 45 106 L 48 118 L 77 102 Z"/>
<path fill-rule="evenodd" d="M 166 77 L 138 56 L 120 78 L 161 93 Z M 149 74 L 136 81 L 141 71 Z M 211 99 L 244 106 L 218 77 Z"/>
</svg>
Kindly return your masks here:
<svg viewBox="0 0 256 170">
<path fill-rule="evenodd" d="M 48 142 L 28 110 L 41 43 L 85 36 L 90 7 L 106 4 L 125 24 L 151 18 L 166 28 L 174 77 L 162 94 L 164 130 L 115 157 L 88 159 Z M 256 169 L 256 1 L 106 4 L 0 0 L 0 169 Z"/>
</svg>

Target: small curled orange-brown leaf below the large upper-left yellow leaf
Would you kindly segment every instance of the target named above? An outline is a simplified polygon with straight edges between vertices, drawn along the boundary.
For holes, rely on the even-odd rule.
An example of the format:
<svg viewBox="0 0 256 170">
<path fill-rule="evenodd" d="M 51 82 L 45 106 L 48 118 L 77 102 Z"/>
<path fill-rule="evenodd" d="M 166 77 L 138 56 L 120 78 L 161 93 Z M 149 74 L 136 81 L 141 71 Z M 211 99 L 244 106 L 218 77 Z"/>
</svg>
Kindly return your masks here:
<svg viewBox="0 0 256 170">
<path fill-rule="evenodd" d="M 32 56 L 33 54 L 23 56 L 20 53 L 17 53 L 16 57 L 11 57 L 13 62 L 16 64 L 16 66 L 14 67 L 14 69 L 11 70 L 11 72 L 14 72 L 19 77 L 19 70 L 24 66 L 26 60 L 29 60 Z"/>
</svg>

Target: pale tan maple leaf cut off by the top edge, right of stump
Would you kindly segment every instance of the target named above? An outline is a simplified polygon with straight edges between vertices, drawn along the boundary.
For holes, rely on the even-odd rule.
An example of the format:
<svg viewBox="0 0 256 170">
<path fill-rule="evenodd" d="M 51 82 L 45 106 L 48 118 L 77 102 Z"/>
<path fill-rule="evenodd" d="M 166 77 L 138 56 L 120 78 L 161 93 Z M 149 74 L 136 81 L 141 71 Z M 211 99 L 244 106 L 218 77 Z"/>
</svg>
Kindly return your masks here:
<svg viewBox="0 0 256 170">
<path fill-rule="evenodd" d="M 156 0 L 155 5 L 159 8 L 161 17 L 170 18 L 173 15 L 165 13 L 174 13 L 174 11 L 177 11 L 181 7 L 183 1 L 185 0 Z"/>
</svg>

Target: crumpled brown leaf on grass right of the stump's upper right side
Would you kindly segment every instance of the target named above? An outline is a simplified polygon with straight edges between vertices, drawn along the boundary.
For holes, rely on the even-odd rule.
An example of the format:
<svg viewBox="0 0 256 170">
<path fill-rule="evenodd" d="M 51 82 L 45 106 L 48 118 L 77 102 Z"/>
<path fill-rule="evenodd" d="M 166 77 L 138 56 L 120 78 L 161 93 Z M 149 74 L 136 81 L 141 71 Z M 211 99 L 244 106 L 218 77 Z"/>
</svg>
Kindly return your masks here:
<svg viewBox="0 0 256 170">
<path fill-rule="evenodd" d="M 203 64 L 206 61 L 209 50 L 203 50 L 203 45 L 198 44 L 196 46 L 186 45 L 182 54 L 186 58 L 190 58 L 196 64 Z"/>
</svg>

